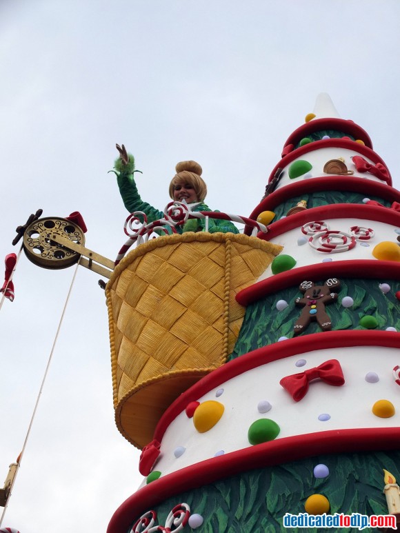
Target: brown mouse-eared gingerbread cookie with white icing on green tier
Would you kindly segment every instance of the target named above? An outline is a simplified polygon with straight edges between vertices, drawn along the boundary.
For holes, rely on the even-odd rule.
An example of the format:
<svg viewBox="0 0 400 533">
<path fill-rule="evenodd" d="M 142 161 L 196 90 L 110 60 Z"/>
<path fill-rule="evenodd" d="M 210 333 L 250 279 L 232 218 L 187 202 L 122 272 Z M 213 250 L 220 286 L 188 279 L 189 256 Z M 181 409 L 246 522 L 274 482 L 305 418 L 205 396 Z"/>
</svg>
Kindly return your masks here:
<svg viewBox="0 0 400 533">
<path fill-rule="evenodd" d="M 294 334 L 298 335 L 308 328 L 312 320 L 319 323 L 323 331 L 332 329 L 330 316 L 326 313 L 325 306 L 337 300 L 337 292 L 332 289 L 340 289 L 340 282 L 336 278 L 328 279 L 323 285 L 315 286 L 312 281 L 300 283 L 299 290 L 303 292 L 303 298 L 297 298 L 296 305 L 303 306 L 299 319 L 294 324 Z"/>
</svg>

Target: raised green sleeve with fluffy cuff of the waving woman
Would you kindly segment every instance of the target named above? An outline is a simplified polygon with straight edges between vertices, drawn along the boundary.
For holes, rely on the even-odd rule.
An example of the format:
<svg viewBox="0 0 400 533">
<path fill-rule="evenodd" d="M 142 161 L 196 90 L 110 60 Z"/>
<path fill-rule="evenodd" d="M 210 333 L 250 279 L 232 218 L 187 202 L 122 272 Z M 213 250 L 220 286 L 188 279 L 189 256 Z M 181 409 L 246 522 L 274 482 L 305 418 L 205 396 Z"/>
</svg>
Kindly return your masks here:
<svg viewBox="0 0 400 533">
<path fill-rule="evenodd" d="M 134 157 L 132 154 L 128 155 L 129 163 L 127 165 L 124 165 L 120 158 L 116 159 L 114 163 L 115 174 L 117 174 L 117 183 L 123 200 L 123 205 L 125 205 L 130 213 L 133 213 L 134 211 L 143 211 L 143 213 L 146 213 L 148 222 L 162 219 L 162 211 L 153 208 L 150 203 L 143 202 L 141 199 L 133 177 Z"/>
</svg>

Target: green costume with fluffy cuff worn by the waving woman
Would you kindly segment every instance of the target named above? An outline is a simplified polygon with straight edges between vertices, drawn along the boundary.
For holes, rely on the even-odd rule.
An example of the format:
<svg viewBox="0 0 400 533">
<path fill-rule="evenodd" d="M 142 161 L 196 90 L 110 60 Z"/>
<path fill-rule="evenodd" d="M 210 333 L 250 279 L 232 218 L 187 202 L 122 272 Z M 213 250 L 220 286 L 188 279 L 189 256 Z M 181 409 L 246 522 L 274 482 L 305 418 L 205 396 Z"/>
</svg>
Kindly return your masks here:
<svg viewBox="0 0 400 533">
<path fill-rule="evenodd" d="M 162 219 L 164 213 L 159 211 L 156 208 L 153 208 L 150 203 L 143 201 L 140 197 L 140 194 L 137 190 L 137 185 L 134 181 L 134 157 L 132 154 L 129 154 L 129 163 L 123 165 L 121 159 L 115 161 L 114 168 L 117 172 L 117 183 L 119 187 L 119 192 L 123 199 L 123 205 L 126 209 L 133 213 L 135 211 L 142 211 L 146 214 L 148 223 L 154 222 L 156 220 Z M 192 208 L 192 211 L 212 211 L 208 205 L 203 202 L 198 203 Z M 190 219 L 188 220 L 183 227 L 177 226 L 176 230 L 178 233 L 183 233 L 187 231 L 205 231 L 206 219 Z M 208 232 L 210 233 L 239 233 L 239 230 L 236 226 L 228 220 L 220 219 L 208 219 Z"/>
</svg>

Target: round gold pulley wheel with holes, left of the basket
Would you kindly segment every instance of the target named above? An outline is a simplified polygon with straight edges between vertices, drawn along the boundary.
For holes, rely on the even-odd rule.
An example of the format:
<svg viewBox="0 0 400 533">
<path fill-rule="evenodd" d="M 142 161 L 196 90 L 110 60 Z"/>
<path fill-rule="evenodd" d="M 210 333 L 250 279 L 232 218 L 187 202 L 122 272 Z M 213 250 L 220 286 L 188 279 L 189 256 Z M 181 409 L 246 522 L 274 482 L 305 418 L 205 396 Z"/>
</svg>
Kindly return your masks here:
<svg viewBox="0 0 400 533">
<path fill-rule="evenodd" d="M 59 217 L 46 217 L 32 222 L 23 234 L 23 250 L 26 257 L 43 268 L 68 268 L 77 263 L 81 255 L 52 240 L 57 234 L 84 245 L 85 235 L 79 225 Z"/>
</svg>

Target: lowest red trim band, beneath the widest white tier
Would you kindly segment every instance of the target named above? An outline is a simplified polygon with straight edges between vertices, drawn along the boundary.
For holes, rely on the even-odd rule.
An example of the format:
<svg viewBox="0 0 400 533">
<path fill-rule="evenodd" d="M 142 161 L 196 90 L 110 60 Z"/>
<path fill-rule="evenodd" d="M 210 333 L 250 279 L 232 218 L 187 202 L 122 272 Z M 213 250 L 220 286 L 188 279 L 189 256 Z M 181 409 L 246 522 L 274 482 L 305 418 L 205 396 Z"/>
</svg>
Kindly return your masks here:
<svg viewBox="0 0 400 533">
<path fill-rule="evenodd" d="M 132 494 L 114 512 L 107 533 L 125 533 L 143 512 L 152 509 L 170 496 L 199 488 L 223 477 L 321 453 L 398 450 L 399 439 L 400 428 L 333 430 L 290 436 L 213 457 L 152 481 L 150 485 Z M 195 509 L 192 511 L 196 512 Z"/>
</svg>

